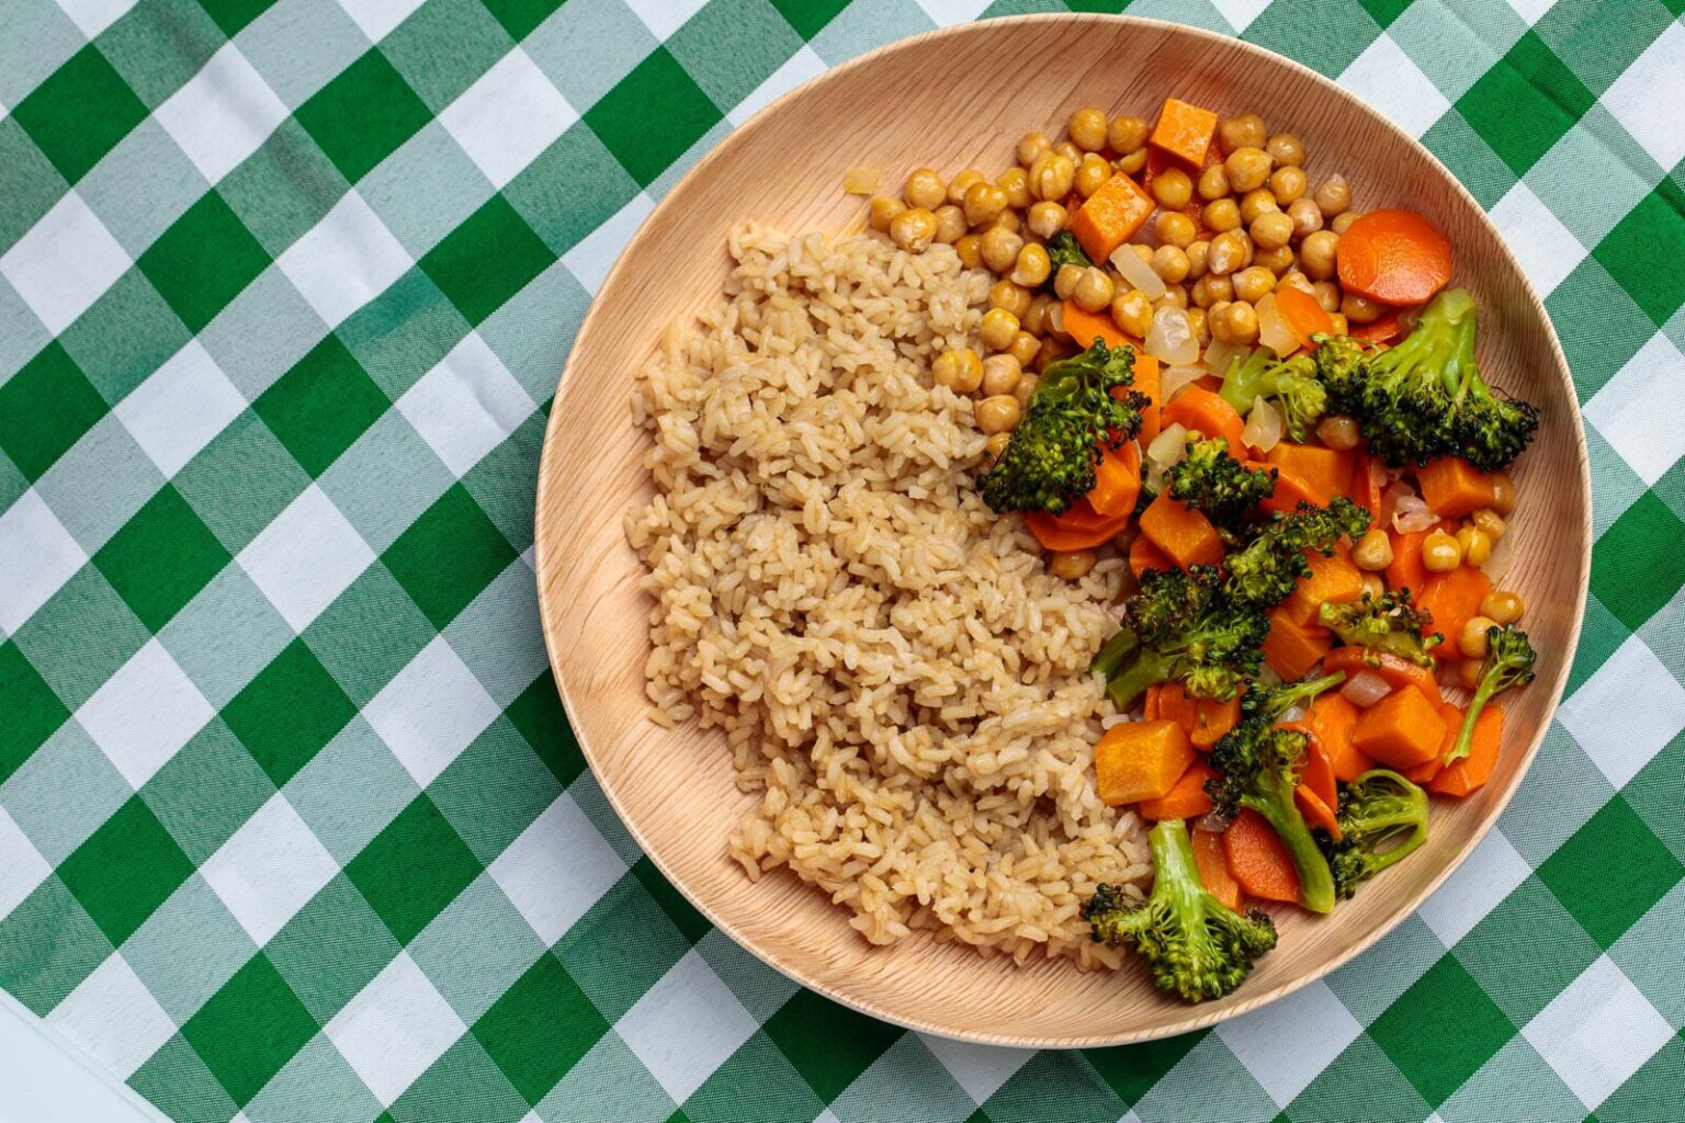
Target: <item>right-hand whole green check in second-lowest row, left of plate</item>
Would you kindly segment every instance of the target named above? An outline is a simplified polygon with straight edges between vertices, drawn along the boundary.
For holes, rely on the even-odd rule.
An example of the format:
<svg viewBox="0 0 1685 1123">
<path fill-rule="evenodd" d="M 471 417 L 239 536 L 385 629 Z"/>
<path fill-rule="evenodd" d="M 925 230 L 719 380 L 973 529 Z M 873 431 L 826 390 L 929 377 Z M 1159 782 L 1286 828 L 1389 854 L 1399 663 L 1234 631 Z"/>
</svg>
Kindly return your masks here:
<svg viewBox="0 0 1685 1123">
<path fill-rule="evenodd" d="M 345 877 L 362 891 L 393 936 L 409 943 L 480 869 L 473 852 L 423 793 L 345 865 Z"/>
</svg>

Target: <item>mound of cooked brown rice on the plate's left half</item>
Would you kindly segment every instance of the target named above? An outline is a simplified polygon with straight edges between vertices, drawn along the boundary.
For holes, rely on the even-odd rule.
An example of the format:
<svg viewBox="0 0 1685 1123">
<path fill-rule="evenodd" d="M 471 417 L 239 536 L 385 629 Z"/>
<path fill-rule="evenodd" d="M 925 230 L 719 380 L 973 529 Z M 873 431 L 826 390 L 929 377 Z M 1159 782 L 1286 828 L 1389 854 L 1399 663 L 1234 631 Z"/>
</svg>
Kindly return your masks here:
<svg viewBox="0 0 1685 1123">
<path fill-rule="evenodd" d="M 762 793 L 730 838 L 750 877 L 790 867 L 873 943 L 1115 966 L 1078 907 L 1149 874 L 1092 778 L 1110 711 L 1085 668 L 1126 569 L 1046 576 L 971 483 L 972 401 L 928 370 L 976 345 L 991 278 L 871 236 L 743 226 L 730 251 L 634 402 L 657 721 L 725 729 Z"/>
</svg>

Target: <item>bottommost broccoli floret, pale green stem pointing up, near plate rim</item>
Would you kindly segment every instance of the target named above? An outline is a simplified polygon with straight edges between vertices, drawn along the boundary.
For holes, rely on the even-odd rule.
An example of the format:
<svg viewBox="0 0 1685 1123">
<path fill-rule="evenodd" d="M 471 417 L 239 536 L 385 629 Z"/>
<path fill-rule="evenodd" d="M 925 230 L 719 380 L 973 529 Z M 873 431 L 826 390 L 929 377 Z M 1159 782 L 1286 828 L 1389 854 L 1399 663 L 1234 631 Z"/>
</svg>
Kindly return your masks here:
<svg viewBox="0 0 1685 1123">
<path fill-rule="evenodd" d="M 1159 820 L 1153 847 L 1153 894 L 1132 904 L 1114 886 L 1099 886 L 1082 906 L 1097 943 L 1132 945 L 1159 990 L 1188 1002 L 1222 998 L 1276 946 L 1276 923 L 1252 909 L 1244 916 L 1213 897 L 1200 881 L 1188 827 Z"/>
</svg>

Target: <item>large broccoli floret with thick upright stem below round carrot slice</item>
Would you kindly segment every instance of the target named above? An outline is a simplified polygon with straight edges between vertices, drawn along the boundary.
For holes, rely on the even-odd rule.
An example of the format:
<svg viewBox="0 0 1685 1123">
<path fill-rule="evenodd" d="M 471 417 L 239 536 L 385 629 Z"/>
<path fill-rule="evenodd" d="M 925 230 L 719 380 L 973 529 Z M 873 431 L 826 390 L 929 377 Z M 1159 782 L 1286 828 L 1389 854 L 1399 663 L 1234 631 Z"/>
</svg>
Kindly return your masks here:
<svg viewBox="0 0 1685 1123">
<path fill-rule="evenodd" d="M 1355 369 L 1341 365 L 1353 345 L 1313 364 L 1335 409 L 1353 414 L 1370 453 L 1393 468 L 1463 456 L 1496 471 L 1533 439 L 1538 411 L 1486 386 L 1474 327 L 1474 298 L 1452 288 L 1422 310 L 1397 347 L 1363 352 Z"/>
</svg>

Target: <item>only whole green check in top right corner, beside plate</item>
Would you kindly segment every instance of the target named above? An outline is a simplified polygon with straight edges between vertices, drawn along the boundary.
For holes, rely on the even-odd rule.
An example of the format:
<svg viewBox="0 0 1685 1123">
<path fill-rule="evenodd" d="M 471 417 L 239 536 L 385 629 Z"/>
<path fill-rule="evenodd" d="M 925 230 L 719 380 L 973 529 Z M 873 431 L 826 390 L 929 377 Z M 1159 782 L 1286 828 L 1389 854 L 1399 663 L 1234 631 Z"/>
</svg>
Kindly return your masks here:
<svg viewBox="0 0 1685 1123">
<path fill-rule="evenodd" d="M 1510 170 L 1527 175 L 1596 101 L 1538 32 L 1528 30 L 1456 108 Z"/>
</svg>

